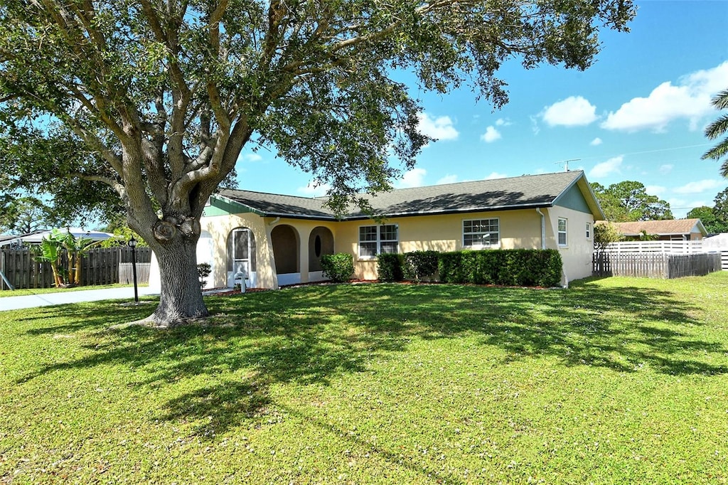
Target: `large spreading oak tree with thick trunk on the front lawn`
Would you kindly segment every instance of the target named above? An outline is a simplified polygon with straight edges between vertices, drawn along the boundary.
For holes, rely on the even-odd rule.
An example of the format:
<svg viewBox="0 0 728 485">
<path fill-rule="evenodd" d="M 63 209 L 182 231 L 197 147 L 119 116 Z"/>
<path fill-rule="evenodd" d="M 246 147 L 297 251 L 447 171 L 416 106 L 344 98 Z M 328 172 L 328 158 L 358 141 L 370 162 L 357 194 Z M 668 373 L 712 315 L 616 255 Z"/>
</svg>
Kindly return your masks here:
<svg viewBox="0 0 728 485">
<path fill-rule="evenodd" d="M 590 66 L 630 0 L 0 0 L 1 119 L 58 122 L 103 163 L 159 261 L 150 320 L 207 315 L 195 247 L 205 201 L 251 143 L 331 186 L 331 206 L 389 188 L 427 138 L 400 72 L 496 108 L 519 58 Z M 8 128 L 8 129 L 12 129 Z M 398 160 L 398 162 L 391 162 Z"/>
</svg>

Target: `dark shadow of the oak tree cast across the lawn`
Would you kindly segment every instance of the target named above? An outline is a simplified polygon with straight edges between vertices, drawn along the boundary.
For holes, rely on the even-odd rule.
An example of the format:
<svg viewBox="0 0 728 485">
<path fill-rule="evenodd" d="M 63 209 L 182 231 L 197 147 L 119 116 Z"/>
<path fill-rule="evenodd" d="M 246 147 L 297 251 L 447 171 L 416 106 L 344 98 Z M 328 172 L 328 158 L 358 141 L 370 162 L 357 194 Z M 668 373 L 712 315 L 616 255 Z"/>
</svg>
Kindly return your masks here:
<svg viewBox="0 0 728 485">
<path fill-rule="evenodd" d="M 84 352 L 40 366 L 19 382 L 74 368 L 122 365 L 135 387 L 156 389 L 199 379 L 205 385 L 170 395 L 159 419 L 207 419 L 213 436 L 259 419 L 269 386 L 328 385 L 397 358 L 411 339 L 476 335 L 505 361 L 558 358 L 566 366 L 620 372 L 649 366 L 664 374 L 724 374 L 728 349 L 701 339 L 697 311 L 673 293 L 649 288 L 529 290 L 457 285 L 323 285 L 215 297 L 204 324 L 159 331 L 109 329 L 141 318 L 149 307 L 119 314 L 109 304 L 55 309 L 58 326 L 30 336 L 79 331 Z M 171 387 L 170 387 L 171 389 Z"/>
</svg>

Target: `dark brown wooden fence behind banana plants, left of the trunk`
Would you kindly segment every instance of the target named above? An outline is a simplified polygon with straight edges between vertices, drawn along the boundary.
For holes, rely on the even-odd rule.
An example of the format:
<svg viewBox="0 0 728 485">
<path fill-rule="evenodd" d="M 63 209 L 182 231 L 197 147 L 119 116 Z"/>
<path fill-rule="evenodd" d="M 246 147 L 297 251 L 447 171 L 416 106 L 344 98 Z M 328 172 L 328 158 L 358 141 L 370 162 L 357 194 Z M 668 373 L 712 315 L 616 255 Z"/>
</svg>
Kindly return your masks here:
<svg viewBox="0 0 728 485">
<path fill-rule="evenodd" d="M 33 251 L 28 248 L 3 249 L 0 251 L 0 271 L 15 288 L 52 288 L 54 284 L 50 263 L 36 261 L 33 256 Z M 136 259 L 137 282 L 149 283 L 151 249 L 136 248 Z M 81 285 L 127 283 L 124 269 L 121 269 L 126 264 L 129 266 L 131 282 L 131 261 L 131 248 L 92 249 L 81 259 Z M 68 268 L 68 254 L 65 251 L 60 256 L 60 267 Z M 9 289 L 1 278 L 0 289 Z"/>
</svg>

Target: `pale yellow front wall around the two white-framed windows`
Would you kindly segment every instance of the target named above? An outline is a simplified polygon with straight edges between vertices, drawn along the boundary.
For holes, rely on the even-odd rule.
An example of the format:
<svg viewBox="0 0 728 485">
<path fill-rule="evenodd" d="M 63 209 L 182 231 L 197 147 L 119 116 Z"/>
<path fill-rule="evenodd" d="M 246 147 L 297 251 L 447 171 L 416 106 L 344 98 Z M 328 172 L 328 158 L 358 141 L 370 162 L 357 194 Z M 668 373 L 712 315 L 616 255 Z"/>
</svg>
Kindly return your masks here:
<svg viewBox="0 0 728 485">
<path fill-rule="evenodd" d="M 462 221 L 479 218 L 499 219 L 502 249 L 541 248 L 541 216 L 534 209 L 397 217 L 388 219 L 384 224 L 397 224 L 400 253 L 459 251 L 463 248 Z M 354 255 L 355 278 L 376 280 L 376 259 L 362 259 L 358 256 L 359 227 L 375 225 L 376 222 L 367 219 L 342 221 L 337 224 L 334 233 L 336 252 Z"/>
</svg>

